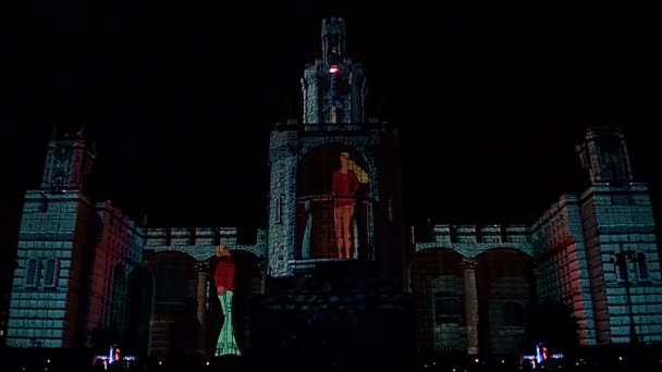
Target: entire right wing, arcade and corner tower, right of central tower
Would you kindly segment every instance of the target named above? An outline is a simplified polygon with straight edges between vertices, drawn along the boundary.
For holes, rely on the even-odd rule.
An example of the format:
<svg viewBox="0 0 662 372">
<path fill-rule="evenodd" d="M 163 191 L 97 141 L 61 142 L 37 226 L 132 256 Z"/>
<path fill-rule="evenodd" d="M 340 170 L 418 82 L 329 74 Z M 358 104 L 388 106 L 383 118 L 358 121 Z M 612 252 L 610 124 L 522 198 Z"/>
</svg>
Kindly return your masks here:
<svg viewBox="0 0 662 372">
<path fill-rule="evenodd" d="M 617 127 L 589 126 L 577 153 L 587 189 L 531 225 L 436 225 L 414 239 L 419 347 L 516 352 L 531 300 L 568 306 L 584 346 L 662 342 L 648 186 L 635 182 Z"/>
</svg>

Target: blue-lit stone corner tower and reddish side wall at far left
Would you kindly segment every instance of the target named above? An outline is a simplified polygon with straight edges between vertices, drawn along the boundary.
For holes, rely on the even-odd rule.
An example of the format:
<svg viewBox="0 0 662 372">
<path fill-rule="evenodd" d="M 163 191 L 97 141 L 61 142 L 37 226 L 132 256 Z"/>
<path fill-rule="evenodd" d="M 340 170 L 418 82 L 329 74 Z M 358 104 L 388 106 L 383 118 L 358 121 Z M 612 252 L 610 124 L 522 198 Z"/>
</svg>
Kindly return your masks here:
<svg viewBox="0 0 662 372">
<path fill-rule="evenodd" d="M 96 153 L 84 132 L 53 132 L 39 189 L 25 194 L 10 346 L 87 347 L 97 325 L 123 331 L 126 276 L 142 260 L 142 230 L 85 195 Z"/>
</svg>

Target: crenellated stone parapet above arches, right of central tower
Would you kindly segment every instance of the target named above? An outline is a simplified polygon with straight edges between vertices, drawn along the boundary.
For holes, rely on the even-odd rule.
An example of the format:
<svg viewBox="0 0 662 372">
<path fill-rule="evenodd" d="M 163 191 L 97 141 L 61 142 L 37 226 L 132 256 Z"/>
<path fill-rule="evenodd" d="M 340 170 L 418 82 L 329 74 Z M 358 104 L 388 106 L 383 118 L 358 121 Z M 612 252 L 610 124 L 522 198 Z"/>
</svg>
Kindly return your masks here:
<svg viewBox="0 0 662 372">
<path fill-rule="evenodd" d="M 526 225 L 433 225 L 431 238 L 418 241 L 414 237 L 416 251 L 433 248 L 450 248 L 464 257 L 476 257 L 489 249 L 512 248 L 528 256 L 534 255 Z"/>
</svg>

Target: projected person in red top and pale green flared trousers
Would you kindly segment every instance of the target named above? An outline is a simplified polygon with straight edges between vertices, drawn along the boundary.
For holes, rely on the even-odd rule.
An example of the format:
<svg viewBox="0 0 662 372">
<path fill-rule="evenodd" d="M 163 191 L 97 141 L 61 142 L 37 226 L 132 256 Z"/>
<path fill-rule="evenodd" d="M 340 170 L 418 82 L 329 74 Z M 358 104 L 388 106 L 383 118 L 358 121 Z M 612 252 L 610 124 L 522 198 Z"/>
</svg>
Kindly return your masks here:
<svg viewBox="0 0 662 372">
<path fill-rule="evenodd" d="M 234 295 L 234 262 L 230 250 L 224 246 L 216 248 L 219 261 L 216 265 L 213 278 L 216 281 L 217 295 L 223 310 L 223 326 L 216 344 L 216 356 L 241 355 L 238 345 L 234 337 L 232 326 L 232 297 Z"/>
</svg>

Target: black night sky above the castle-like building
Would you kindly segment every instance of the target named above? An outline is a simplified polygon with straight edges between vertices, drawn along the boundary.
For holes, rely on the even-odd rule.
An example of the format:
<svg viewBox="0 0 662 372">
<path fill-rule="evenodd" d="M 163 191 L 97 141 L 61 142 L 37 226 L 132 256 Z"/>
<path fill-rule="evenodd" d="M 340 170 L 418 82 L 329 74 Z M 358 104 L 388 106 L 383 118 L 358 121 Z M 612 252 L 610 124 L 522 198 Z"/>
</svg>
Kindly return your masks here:
<svg viewBox="0 0 662 372">
<path fill-rule="evenodd" d="M 83 122 L 101 200 L 155 225 L 263 225 L 269 128 L 301 117 L 299 78 L 332 14 L 366 65 L 369 116 L 402 128 L 410 224 L 526 221 L 580 191 L 574 145 L 589 121 L 621 123 L 638 181 L 662 185 L 647 127 L 660 123 L 654 12 L 357 2 L 4 12 L 3 241 L 52 127 Z"/>
</svg>

